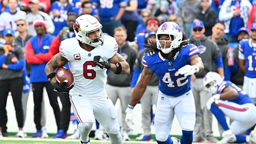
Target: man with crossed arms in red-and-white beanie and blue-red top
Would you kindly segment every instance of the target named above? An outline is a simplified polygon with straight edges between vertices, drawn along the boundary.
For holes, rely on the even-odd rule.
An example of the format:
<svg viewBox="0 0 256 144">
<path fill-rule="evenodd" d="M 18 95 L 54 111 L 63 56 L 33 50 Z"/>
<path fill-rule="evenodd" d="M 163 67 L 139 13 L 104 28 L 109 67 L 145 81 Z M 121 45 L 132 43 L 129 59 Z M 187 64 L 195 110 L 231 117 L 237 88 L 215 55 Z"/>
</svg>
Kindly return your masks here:
<svg viewBox="0 0 256 144">
<path fill-rule="evenodd" d="M 33 26 L 36 30 L 37 36 L 32 37 L 26 44 L 26 60 L 27 63 L 32 64 L 30 71 L 30 81 L 33 88 L 34 99 L 34 123 L 36 124 L 37 132 L 32 137 L 42 137 L 41 131 L 41 103 L 43 97 L 43 88 L 46 87 L 49 97 L 50 105 L 53 108 L 55 121 L 58 130 L 60 123 L 60 108 L 57 101 L 57 94 L 53 90 L 53 86 L 49 83 L 44 68 L 48 62 L 47 60 L 37 57 L 39 54 L 48 53 L 50 44 L 54 37 L 47 34 L 46 22 L 42 18 L 37 18 L 33 21 Z M 43 129 L 46 131 L 45 129 Z"/>
</svg>

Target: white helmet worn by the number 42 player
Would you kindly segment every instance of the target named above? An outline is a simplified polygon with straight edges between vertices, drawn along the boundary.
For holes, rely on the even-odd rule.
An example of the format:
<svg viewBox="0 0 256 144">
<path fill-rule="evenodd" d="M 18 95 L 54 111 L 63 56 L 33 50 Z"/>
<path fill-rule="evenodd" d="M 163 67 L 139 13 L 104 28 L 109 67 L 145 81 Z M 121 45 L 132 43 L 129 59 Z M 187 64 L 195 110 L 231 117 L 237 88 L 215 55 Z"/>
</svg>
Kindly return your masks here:
<svg viewBox="0 0 256 144">
<path fill-rule="evenodd" d="M 167 34 L 170 37 L 169 41 L 162 41 L 159 40 L 160 34 Z M 171 41 L 171 35 L 174 37 L 174 39 Z M 169 48 L 162 48 L 160 42 L 171 42 L 171 45 Z M 180 26 L 177 25 L 175 22 L 164 22 L 156 32 L 156 46 L 158 49 L 162 50 L 163 53 L 167 54 L 170 53 L 175 48 L 178 48 L 180 44 L 182 43 L 182 30 Z"/>
</svg>

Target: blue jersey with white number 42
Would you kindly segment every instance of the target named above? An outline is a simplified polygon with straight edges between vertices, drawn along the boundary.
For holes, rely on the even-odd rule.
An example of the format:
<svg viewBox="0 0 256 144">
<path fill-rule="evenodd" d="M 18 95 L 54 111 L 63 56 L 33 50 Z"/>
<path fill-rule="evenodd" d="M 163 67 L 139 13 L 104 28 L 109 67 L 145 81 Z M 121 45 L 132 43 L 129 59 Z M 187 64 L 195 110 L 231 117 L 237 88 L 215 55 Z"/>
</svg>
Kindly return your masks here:
<svg viewBox="0 0 256 144">
<path fill-rule="evenodd" d="M 181 96 L 191 90 L 191 75 L 178 74 L 178 69 L 190 64 L 189 59 L 199 54 L 197 46 L 188 44 L 178 51 L 171 62 L 162 57 L 159 51 L 145 53 L 142 64 L 156 73 L 159 78 L 159 90 L 168 96 Z"/>
</svg>

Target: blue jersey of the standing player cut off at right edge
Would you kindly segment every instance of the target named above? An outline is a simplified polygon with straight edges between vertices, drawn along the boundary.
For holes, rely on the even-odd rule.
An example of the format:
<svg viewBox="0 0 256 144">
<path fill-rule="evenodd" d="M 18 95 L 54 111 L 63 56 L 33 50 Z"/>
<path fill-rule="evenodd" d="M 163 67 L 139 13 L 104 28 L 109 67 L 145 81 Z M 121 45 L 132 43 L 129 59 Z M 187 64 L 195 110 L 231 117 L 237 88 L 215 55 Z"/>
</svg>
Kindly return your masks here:
<svg viewBox="0 0 256 144">
<path fill-rule="evenodd" d="M 245 76 L 256 78 L 256 47 L 252 46 L 251 39 L 244 39 L 239 43 L 239 51 L 244 55 Z"/>
</svg>

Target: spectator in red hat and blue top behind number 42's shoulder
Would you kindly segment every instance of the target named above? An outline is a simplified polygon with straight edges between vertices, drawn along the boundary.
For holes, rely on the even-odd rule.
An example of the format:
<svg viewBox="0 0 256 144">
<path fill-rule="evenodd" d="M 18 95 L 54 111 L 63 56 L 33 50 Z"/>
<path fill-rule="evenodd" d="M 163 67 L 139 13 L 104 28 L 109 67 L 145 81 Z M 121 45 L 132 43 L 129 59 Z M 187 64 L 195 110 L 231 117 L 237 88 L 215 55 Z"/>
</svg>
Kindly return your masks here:
<svg viewBox="0 0 256 144">
<path fill-rule="evenodd" d="M 149 18 L 148 21 L 146 21 L 146 32 L 139 33 L 135 36 L 134 41 L 134 48 L 138 51 L 144 49 L 144 47 L 141 44 L 146 44 L 145 42 L 145 34 L 150 31 L 157 31 L 159 27 L 159 21 L 157 18 Z"/>
</svg>

